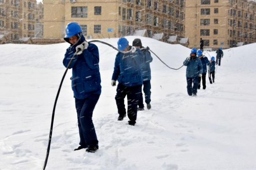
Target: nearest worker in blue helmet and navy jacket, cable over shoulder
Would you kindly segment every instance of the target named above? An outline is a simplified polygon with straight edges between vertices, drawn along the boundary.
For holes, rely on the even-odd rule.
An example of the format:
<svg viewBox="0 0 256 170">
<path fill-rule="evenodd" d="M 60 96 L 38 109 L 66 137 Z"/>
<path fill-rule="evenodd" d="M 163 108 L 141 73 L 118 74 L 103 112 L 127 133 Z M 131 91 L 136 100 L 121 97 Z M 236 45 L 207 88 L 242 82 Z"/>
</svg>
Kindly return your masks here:
<svg viewBox="0 0 256 170">
<path fill-rule="evenodd" d="M 64 40 L 71 44 L 63 60 L 65 67 L 68 67 L 71 58 L 76 54 L 69 66 L 69 69 L 72 69 L 71 87 L 80 136 L 80 146 L 74 150 L 87 148 L 86 152 L 96 152 L 99 147 L 92 113 L 101 94 L 99 51 L 95 44 L 85 40 L 78 23 L 67 24 Z"/>
</svg>

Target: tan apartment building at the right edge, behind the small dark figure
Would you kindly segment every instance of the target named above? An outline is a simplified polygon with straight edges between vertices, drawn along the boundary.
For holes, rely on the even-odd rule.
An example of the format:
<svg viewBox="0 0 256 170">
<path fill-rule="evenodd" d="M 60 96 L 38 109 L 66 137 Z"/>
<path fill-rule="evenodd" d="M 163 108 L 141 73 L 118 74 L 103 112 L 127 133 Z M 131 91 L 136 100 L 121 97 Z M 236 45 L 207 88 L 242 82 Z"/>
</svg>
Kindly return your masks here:
<svg viewBox="0 0 256 170">
<path fill-rule="evenodd" d="M 189 47 L 230 48 L 256 41 L 256 2 L 251 0 L 187 0 L 185 37 Z"/>
</svg>

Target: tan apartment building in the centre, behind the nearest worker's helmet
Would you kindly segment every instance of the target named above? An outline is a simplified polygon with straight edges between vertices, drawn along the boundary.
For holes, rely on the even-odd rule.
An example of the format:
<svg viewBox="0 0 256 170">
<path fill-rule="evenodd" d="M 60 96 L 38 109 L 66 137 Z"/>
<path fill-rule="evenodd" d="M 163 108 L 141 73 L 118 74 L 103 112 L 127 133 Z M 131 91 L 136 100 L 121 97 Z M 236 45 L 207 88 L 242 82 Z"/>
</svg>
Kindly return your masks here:
<svg viewBox="0 0 256 170">
<path fill-rule="evenodd" d="M 64 37 L 78 22 L 87 38 L 110 38 L 146 30 L 148 37 L 184 37 L 184 0 L 44 0 L 44 37 Z"/>
</svg>

